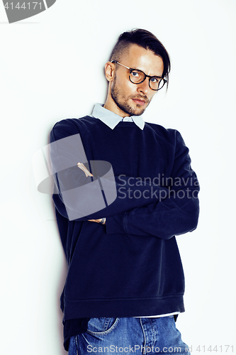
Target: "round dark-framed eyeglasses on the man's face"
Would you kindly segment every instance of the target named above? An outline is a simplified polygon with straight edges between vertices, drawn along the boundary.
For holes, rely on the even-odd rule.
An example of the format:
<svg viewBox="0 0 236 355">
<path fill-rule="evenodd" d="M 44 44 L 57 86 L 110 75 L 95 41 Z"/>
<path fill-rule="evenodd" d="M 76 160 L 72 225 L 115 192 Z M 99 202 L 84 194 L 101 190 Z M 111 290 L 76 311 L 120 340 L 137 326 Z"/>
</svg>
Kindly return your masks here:
<svg viewBox="0 0 236 355">
<path fill-rule="evenodd" d="M 119 63 L 117 60 L 111 60 L 111 62 L 126 67 L 125 65 Z M 164 87 L 164 84 L 167 82 L 167 80 L 163 79 L 162 77 L 152 77 L 151 75 L 147 75 L 145 74 L 145 72 L 142 72 L 142 70 L 133 69 L 131 67 L 126 68 L 130 70 L 130 82 L 133 82 L 133 84 L 141 84 L 141 82 L 145 81 L 146 77 L 149 77 L 150 89 L 157 91 L 159 89 L 162 89 L 162 87 Z"/>
</svg>

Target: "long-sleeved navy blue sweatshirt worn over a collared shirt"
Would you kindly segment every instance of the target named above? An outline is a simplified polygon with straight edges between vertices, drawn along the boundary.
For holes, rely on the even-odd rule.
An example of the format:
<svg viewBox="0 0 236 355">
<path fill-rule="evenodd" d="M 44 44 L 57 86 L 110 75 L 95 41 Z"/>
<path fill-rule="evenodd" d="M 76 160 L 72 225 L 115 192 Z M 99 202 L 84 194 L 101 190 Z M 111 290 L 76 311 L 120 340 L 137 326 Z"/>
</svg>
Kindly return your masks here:
<svg viewBox="0 0 236 355">
<path fill-rule="evenodd" d="M 106 208 L 72 220 L 61 190 L 65 176 L 86 179 L 76 153 L 66 175 L 55 174 L 59 193 L 53 200 L 69 266 L 61 297 L 64 322 L 184 312 L 184 272 L 175 236 L 196 229 L 199 187 L 180 133 L 147 123 L 141 130 L 132 122 L 111 130 L 86 116 L 55 124 L 50 141 L 78 133 L 88 162 L 111 164 L 117 197 Z M 88 222 L 102 217 L 106 225 Z"/>
</svg>

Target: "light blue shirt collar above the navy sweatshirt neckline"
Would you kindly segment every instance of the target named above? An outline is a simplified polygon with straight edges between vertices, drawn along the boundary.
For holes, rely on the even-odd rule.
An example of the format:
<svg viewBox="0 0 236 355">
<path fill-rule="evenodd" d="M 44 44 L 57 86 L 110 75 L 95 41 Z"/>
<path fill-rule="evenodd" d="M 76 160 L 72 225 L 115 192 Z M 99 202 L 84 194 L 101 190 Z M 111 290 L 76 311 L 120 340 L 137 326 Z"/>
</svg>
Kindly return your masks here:
<svg viewBox="0 0 236 355">
<path fill-rule="evenodd" d="M 109 111 L 108 109 L 104 109 L 102 104 L 95 104 L 92 116 L 103 121 L 103 124 L 106 124 L 108 127 L 110 127 L 110 129 L 114 129 L 120 121 L 134 122 L 140 129 L 144 129 L 145 126 L 145 121 L 143 121 L 142 115 L 127 116 L 123 118 L 118 116 L 118 114 L 114 114 L 114 112 Z"/>
</svg>

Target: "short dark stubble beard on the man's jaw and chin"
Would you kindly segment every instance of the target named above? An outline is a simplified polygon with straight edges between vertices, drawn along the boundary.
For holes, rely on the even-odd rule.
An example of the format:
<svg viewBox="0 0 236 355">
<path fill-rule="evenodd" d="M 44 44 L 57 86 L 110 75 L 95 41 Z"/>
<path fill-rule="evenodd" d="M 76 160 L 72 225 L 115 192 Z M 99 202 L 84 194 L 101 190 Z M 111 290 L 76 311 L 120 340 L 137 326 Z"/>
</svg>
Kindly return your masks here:
<svg viewBox="0 0 236 355">
<path fill-rule="evenodd" d="M 116 103 L 116 106 L 121 109 L 122 111 L 125 112 L 125 114 L 128 114 L 130 116 L 140 116 L 141 114 L 143 114 L 143 112 L 145 111 L 145 109 L 147 108 L 147 106 L 150 104 L 149 99 L 147 99 L 146 95 L 130 95 L 129 97 L 125 97 L 121 90 L 118 89 L 118 87 L 116 86 L 116 77 L 114 78 L 114 82 L 113 82 L 113 87 L 111 88 L 111 97 L 113 99 L 113 101 Z M 139 104 L 136 104 L 136 107 L 131 107 L 128 104 L 128 100 L 129 99 L 145 99 L 147 106 L 146 107 L 142 107 Z"/>
</svg>

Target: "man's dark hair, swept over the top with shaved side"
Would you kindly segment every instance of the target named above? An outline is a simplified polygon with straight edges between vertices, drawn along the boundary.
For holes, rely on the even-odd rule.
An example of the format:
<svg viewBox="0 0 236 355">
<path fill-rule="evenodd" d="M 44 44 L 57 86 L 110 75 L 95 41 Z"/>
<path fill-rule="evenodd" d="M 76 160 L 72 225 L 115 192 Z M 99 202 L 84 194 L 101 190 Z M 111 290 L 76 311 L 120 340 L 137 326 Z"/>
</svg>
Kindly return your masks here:
<svg viewBox="0 0 236 355">
<path fill-rule="evenodd" d="M 169 80 L 169 71 L 170 71 L 170 60 L 169 54 L 164 48 L 164 45 L 157 39 L 155 35 L 147 30 L 142 30 L 141 28 L 136 28 L 131 31 L 123 32 L 118 38 L 118 41 L 111 52 L 111 60 L 120 60 L 121 55 L 125 50 L 129 48 L 131 44 L 140 45 L 140 47 L 152 50 L 155 55 L 163 60 L 164 70 L 162 77 L 167 79 L 167 85 Z"/>
</svg>

